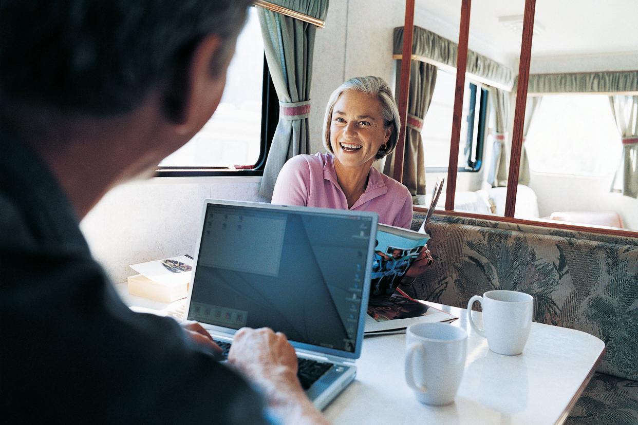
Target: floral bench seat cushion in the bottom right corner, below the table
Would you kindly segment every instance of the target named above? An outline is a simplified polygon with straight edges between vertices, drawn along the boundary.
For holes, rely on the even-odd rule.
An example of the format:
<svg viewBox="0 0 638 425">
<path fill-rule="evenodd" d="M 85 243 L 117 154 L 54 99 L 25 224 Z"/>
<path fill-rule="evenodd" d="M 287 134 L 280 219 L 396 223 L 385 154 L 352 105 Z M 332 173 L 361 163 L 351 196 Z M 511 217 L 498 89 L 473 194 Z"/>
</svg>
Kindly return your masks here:
<svg viewBox="0 0 638 425">
<path fill-rule="evenodd" d="M 638 382 L 595 373 L 565 425 L 638 424 Z"/>
</svg>

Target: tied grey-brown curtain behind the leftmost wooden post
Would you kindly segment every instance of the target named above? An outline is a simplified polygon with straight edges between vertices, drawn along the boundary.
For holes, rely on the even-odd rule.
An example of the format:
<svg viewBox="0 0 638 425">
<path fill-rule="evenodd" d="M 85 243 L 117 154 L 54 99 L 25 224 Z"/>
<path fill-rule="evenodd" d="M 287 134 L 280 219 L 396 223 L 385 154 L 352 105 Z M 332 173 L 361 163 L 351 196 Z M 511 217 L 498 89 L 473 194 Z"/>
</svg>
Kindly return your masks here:
<svg viewBox="0 0 638 425">
<path fill-rule="evenodd" d="M 432 102 L 436 83 L 436 66 L 425 62 L 411 61 L 410 94 L 408 95 L 408 119 L 403 154 L 403 184 L 412 196 L 426 194 L 426 161 L 424 157 L 423 119 Z M 401 79 L 401 61 L 397 61 L 397 84 Z M 398 93 L 398 90 L 397 90 Z M 392 175 L 394 152 L 385 160 L 383 173 Z"/>
</svg>

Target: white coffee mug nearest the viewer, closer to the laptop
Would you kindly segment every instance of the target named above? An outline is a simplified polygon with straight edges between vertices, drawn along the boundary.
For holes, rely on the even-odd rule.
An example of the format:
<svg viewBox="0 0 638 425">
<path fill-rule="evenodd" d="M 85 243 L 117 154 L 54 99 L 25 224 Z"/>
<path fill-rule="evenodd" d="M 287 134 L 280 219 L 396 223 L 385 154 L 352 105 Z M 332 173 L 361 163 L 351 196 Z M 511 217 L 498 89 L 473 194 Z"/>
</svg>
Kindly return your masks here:
<svg viewBox="0 0 638 425">
<path fill-rule="evenodd" d="M 447 323 L 418 323 L 408 327 L 405 380 L 417 400 L 447 405 L 461 384 L 468 334 Z"/>
</svg>

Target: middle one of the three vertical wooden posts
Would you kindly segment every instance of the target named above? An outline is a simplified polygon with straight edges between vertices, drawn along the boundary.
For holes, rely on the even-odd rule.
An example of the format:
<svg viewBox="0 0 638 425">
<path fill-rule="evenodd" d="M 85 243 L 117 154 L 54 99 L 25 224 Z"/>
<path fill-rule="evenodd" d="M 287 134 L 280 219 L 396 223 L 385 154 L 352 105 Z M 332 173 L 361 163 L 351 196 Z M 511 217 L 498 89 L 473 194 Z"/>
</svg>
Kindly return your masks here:
<svg viewBox="0 0 638 425">
<path fill-rule="evenodd" d="M 468 62 L 468 37 L 470 36 L 471 0 L 461 3 L 461 25 L 459 25 L 459 50 L 456 56 L 456 91 L 454 92 L 454 115 L 452 115 L 452 136 L 450 136 L 450 161 L 447 166 L 447 188 L 445 209 L 454 210 L 456 192 L 456 167 L 459 162 L 459 140 L 461 120 L 463 120 L 463 93 L 465 92 L 465 71 Z"/>
</svg>

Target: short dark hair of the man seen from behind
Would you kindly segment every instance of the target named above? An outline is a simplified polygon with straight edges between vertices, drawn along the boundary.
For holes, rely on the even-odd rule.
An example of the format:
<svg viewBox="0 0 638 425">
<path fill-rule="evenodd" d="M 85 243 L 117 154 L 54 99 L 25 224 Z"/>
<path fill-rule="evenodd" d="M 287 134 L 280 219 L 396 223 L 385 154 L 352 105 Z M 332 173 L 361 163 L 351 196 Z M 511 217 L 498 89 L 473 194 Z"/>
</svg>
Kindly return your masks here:
<svg viewBox="0 0 638 425">
<path fill-rule="evenodd" d="M 124 113 L 185 72 L 198 41 L 223 71 L 250 0 L 1 0 L 0 105 Z"/>
</svg>

